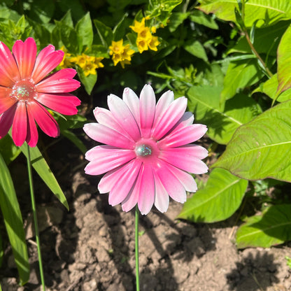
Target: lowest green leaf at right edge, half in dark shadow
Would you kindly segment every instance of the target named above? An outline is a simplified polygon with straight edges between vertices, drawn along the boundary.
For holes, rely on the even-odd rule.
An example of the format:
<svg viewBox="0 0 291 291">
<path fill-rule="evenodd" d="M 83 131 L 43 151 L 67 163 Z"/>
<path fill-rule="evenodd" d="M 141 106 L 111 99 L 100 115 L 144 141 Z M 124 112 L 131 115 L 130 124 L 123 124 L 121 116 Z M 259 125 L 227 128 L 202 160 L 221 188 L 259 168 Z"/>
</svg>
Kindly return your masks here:
<svg viewBox="0 0 291 291">
<path fill-rule="evenodd" d="M 291 204 L 270 206 L 246 220 L 236 232 L 238 248 L 269 248 L 291 240 Z"/>
</svg>

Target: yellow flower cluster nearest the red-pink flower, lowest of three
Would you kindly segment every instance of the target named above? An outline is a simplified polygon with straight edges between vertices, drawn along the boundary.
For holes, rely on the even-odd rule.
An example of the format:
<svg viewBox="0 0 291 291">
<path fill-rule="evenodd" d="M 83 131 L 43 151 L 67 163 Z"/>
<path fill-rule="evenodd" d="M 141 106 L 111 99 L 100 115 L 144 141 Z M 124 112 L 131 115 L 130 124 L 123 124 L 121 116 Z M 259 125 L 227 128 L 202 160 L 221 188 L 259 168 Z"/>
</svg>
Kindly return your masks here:
<svg viewBox="0 0 291 291">
<path fill-rule="evenodd" d="M 66 48 L 62 47 L 61 50 L 64 51 L 64 59 L 61 64 L 59 64 L 61 68 L 71 68 L 77 64 L 83 69 L 83 72 L 87 77 L 89 75 L 96 75 L 96 69 L 104 67 L 104 64 L 101 63 L 101 60 L 104 59 L 104 57 L 92 57 L 90 55 L 85 55 L 84 53 L 82 55 L 72 56 Z"/>
</svg>

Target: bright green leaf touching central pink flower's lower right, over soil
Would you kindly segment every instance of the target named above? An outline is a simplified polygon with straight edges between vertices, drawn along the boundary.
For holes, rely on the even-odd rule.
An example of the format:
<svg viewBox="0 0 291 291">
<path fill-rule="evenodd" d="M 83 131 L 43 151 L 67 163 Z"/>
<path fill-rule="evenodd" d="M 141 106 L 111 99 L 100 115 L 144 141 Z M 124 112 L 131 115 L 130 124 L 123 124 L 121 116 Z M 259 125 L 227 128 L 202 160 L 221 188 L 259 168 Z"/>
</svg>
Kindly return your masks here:
<svg viewBox="0 0 291 291">
<path fill-rule="evenodd" d="M 206 187 L 186 201 L 178 218 L 193 222 L 225 220 L 239 208 L 247 187 L 247 180 L 224 169 L 214 169 Z"/>
</svg>

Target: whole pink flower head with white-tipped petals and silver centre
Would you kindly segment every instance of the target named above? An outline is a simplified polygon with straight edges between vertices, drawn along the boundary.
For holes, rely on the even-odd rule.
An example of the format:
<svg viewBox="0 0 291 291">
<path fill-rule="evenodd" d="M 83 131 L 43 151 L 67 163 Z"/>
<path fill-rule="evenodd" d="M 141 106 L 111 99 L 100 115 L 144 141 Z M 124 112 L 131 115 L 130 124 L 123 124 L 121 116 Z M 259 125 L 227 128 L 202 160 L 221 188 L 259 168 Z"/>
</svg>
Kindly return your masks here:
<svg viewBox="0 0 291 291">
<path fill-rule="evenodd" d="M 87 151 L 85 173 L 106 173 L 98 185 L 100 193 L 109 192 L 109 204 L 122 204 L 123 211 L 136 204 L 146 215 L 152 205 L 165 212 L 169 197 L 186 201 L 186 191 L 196 192 L 190 173 L 206 173 L 201 161 L 205 148 L 190 144 L 207 131 L 205 125 L 193 125 L 192 113 L 185 112 L 187 99 L 173 99 L 173 92 L 162 94 L 156 104 L 155 93 L 145 85 L 140 99 L 129 88 L 123 101 L 108 96 L 108 107 L 95 108 L 98 123 L 84 126 L 91 139 L 105 143 Z M 190 172 L 190 173 L 187 173 Z"/>
</svg>

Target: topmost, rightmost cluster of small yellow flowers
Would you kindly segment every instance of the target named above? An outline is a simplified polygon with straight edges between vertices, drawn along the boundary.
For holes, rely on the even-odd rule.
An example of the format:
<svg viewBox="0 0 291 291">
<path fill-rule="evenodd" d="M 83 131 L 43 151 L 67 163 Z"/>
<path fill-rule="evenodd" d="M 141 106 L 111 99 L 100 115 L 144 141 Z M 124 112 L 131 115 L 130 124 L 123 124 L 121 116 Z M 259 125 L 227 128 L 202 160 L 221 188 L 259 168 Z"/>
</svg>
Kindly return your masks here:
<svg viewBox="0 0 291 291">
<path fill-rule="evenodd" d="M 146 27 L 145 22 L 146 18 L 143 17 L 141 22 L 134 20 L 134 26 L 130 26 L 137 33 L 136 45 L 140 53 L 148 49 L 157 51 L 157 45 L 159 45 L 157 36 L 152 36 L 155 34 L 156 27 Z"/>
</svg>

